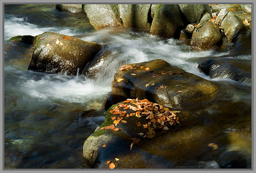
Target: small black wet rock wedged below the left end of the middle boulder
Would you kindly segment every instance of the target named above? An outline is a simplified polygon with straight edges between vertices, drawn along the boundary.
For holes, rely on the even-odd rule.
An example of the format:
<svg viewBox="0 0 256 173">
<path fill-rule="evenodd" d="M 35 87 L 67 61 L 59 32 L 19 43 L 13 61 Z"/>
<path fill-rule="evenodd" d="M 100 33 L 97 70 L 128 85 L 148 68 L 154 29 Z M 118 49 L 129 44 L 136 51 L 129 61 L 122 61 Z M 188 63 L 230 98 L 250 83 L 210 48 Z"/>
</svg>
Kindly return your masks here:
<svg viewBox="0 0 256 173">
<path fill-rule="evenodd" d="M 107 110 L 109 109 L 113 104 L 117 104 L 118 102 L 124 101 L 126 100 L 127 97 L 124 96 L 119 96 L 119 95 L 115 95 L 110 93 L 108 96 L 106 96 L 106 98 L 103 101 L 103 104 L 101 106 L 101 108 L 103 110 Z"/>
</svg>

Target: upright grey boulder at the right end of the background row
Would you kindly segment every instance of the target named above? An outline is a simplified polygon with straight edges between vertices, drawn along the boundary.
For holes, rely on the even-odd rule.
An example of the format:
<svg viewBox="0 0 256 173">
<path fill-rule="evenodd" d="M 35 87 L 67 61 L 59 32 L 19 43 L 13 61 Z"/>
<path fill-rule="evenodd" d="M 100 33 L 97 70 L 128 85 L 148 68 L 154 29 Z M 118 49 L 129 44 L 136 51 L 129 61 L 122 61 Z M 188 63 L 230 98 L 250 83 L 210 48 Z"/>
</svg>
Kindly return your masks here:
<svg viewBox="0 0 256 173">
<path fill-rule="evenodd" d="M 221 26 L 224 28 L 224 33 L 229 42 L 234 42 L 239 34 L 245 34 L 246 30 L 248 30 L 241 18 L 233 12 L 229 12 L 226 15 L 221 22 Z"/>
</svg>

